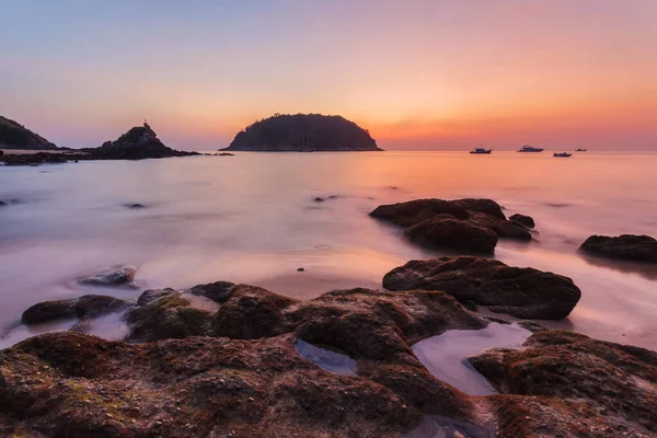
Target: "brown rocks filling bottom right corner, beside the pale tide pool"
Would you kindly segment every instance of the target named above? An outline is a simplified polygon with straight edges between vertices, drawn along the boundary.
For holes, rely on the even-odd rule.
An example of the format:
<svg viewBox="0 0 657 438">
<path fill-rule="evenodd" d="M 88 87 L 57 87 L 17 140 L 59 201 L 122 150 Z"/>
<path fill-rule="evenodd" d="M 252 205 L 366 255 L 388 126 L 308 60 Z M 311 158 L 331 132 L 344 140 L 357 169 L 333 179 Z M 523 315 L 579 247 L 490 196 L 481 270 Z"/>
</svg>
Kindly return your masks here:
<svg viewBox="0 0 657 438">
<path fill-rule="evenodd" d="M 500 393 L 523 395 L 491 397 L 509 416 L 509 436 L 648 437 L 657 430 L 654 351 L 541 331 L 521 349 L 486 350 L 470 362 Z M 514 416 L 520 420 L 511 423 Z"/>
</svg>

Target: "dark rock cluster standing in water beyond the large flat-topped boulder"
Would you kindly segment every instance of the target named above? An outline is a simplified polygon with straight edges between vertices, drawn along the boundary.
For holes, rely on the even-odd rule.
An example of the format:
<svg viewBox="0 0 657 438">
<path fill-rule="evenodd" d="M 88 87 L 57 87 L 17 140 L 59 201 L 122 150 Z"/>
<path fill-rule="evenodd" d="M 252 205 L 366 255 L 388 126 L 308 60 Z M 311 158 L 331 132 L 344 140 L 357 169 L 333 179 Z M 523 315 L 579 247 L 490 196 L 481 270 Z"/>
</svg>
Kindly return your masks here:
<svg viewBox="0 0 657 438">
<path fill-rule="evenodd" d="M 416 199 L 381 205 L 370 216 L 403 227 L 407 239 L 429 247 L 491 254 L 498 238 L 532 239 L 491 199 Z"/>
</svg>

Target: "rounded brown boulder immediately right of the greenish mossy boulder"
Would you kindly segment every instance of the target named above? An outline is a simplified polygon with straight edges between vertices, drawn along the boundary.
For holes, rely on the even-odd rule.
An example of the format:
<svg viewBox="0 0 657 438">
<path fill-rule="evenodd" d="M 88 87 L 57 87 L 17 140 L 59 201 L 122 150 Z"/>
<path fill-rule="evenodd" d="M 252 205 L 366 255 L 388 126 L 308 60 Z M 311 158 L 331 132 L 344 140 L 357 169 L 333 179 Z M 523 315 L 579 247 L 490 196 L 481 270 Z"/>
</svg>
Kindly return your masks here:
<svg viewBox="0 0 657 438">
<path fill-rule="evenodd" d="M 263 288 L 238 285 L 215 314 L 212 333 L 215 336 L 256 339 L 290 332 L 292 327 L 283 311 L 295 302 Z"/>
</svg>

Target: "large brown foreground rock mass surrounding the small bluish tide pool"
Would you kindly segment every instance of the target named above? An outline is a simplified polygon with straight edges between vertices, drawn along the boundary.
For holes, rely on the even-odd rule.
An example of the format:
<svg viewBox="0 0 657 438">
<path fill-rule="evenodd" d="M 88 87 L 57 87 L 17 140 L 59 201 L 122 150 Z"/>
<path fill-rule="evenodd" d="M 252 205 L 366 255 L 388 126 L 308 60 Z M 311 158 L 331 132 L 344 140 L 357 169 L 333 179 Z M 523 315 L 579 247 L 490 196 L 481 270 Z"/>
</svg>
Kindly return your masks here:
<svg viewBox="0 0 657 438">
<path fill-rule="evenodd" d="M 486 325 L 448 295 L 353 289 L 300 302 L 252 286 L 229 289 L 208 328 L 221 337 L 130 345 L 66 332 L 0 351 L 3 431 L 397 437 L 425 414 L 483 420 L 477 402 L 436 380 L 408 346 Z M 172 289 L 142 298 L 143 311 L 165 309 L 150 321 L 187 307 Z M 151 333 L 163 337 L 159 330 Z M 319 368 L 297 354 L 297 339 L 344 351 L 357 376 Z"/>
</svg>

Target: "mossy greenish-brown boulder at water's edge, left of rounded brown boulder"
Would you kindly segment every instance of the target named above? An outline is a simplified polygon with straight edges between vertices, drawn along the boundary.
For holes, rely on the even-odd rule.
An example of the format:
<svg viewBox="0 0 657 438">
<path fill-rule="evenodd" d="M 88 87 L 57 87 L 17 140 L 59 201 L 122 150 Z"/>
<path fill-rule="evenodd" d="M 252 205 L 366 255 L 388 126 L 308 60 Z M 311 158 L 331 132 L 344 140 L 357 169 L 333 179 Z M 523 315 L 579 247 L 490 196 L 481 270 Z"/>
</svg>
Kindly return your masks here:
<svg viewBox="0 0 657 438">
<path fill-rule="evenodd" d="M 204 336 L 210 332 L 212 314 L 189 307 L 189 301 L 181 292 L 171 290 L 149 290 L 139 297 L 138 302 L 145 304 L 130 310 L 126 315 L 130 330 L 127 342 L 180 339 Z"/>
</svg>

